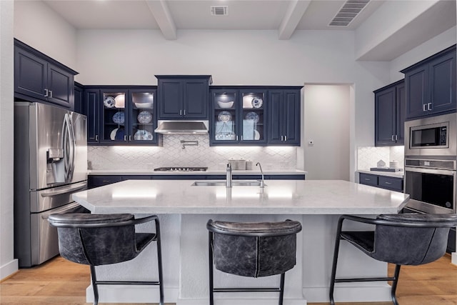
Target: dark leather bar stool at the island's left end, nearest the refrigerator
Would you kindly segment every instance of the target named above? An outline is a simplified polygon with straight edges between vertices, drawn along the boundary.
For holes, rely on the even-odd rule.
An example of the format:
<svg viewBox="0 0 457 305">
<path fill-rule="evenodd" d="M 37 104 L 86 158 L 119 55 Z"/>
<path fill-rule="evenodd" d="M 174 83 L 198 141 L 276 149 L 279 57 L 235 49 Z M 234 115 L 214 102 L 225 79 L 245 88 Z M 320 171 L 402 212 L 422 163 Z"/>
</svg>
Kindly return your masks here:
<svg viewBox="0 0 457 305">
<path fill-rule="evenodd" d="M 135 225 L 155 221 L 156 233 L 136 233 Z M 159 285 L 160 305 L 164 305 L 160 225 L 157 216 L 135 219 L 132 214 L 51 214 L 57 227 L 59 251 L 64 259 L 91 266 L 94 305 L 99 303 L 99 284 Z M 95 266 L 129 261 L 156 241 L 159 281 L 98 281 Z"/>
</svg>

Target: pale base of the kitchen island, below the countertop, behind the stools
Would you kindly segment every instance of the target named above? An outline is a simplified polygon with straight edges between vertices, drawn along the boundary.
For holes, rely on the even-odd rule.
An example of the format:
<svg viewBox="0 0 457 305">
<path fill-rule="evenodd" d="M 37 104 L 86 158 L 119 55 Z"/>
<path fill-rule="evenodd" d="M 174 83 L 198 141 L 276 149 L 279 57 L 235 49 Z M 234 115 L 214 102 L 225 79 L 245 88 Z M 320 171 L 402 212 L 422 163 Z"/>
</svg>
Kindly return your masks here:
<svg viewBox="0 0 457 305">
<path fill-rule="evenodd" d="M 303 230 L 297 234 L 296 266 L 286 272 L 284 304 L 328 302 L 328 286 L 333 257 L 333 243 L 338 215 L 240 215 L 240 214 L 159 214 L 164 260 L 164 290 L 166 303 L 176 305 L 206 304 L 209 298 L 208 280 L 208 219 L 223 221 L 300 221 Z M 148 230 L 147 227 L 144 228 Z M 149 228 L 153 229 L 153 228 Z M 346 227 L 345 227 L 346 229 Z M 347 229 L 366 229 L 351 224 Z M 122 266 L 98 266 L 97 272 L 111 280 L 129 276 L 149 279 L 154 276 L 154 247 L 145 249 L 135 261 Z M 338 276 L 386 276 L 387 264 L 371 259 L 353 246 L 341 243 Z M 117 264 L 117 265 L 121 265 Z M 215 286 L 275 286 L 279 276 L 252 279 L 215 270 Z M 101 278 L 102 279 L 102 278 Z M 159 299 L 156 287 L 103 286 L 100 301 L 109 303 L 150 303 Z M 91 286 L 86 291 L 88 302 L 93 298 Z M 277 304 L 278 293 L 217 294 L 217 305 Z M 336 301 L 389 301 L 390 286 L 386 282 L 337 284 Z"/>
</svg>

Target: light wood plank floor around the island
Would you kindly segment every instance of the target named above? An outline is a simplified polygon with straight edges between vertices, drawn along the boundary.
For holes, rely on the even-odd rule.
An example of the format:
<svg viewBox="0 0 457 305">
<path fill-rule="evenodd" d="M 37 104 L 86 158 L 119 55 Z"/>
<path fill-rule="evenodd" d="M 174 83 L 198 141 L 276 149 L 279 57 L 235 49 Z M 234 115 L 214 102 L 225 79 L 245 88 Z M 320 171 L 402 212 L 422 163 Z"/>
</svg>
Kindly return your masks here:
<svg viewBox="0 0 457 305">
<path fill-rule="evenodd" d="M 389 272 L 392 271 L 389 266 Z M 1 281 L 0 304 L 86 305 L 86 287 L 89 284 L 89 266 L 74 264 L 57 256 L 41 266 L 20 269 Z M 451 264 L 451 256 L 446 254 L 442 259 L 422 266 L 403 266 L 397 296 L 401 305 L 457 305 L 457 266 Z M 338 303 L 361 304 L 391 303 Z"/>
</svg>

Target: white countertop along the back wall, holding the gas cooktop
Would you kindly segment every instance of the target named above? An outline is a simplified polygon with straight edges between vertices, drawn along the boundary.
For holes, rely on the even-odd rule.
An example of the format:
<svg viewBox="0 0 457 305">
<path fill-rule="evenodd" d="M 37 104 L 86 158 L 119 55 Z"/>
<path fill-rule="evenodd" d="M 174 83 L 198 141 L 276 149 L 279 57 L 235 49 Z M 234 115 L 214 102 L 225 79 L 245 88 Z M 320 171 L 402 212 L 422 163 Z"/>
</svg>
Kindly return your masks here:
<svg viewBox="0 0 457 305">
<path fill-rule="evenodd" d="M 225 169 L 209 169 L 207 171 L 154 171 L 154 169 L 90 169 L 87 174 L 93 175 L 225 175 Z M 249 171 L 233 170 L 234 175 L 260 175 L 260 170 Z M 308 174 L 308 171 L 299 169 L 263 169 L 266 175 Z"/>
</svg>

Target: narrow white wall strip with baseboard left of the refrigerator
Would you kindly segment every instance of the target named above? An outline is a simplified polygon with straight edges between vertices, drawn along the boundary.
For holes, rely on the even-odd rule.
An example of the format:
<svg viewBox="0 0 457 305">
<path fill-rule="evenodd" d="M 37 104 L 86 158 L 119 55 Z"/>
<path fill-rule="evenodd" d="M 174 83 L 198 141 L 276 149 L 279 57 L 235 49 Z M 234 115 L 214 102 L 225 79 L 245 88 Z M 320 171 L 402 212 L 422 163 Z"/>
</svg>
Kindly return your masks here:
<svg viewBox="0 0 457 305">
<path fill-rule="evenodd" d="M 13 1 L 0 1 L 0 279 L 18 269 L 13 240 Z"/>
</svg>

